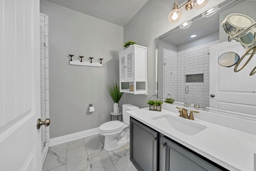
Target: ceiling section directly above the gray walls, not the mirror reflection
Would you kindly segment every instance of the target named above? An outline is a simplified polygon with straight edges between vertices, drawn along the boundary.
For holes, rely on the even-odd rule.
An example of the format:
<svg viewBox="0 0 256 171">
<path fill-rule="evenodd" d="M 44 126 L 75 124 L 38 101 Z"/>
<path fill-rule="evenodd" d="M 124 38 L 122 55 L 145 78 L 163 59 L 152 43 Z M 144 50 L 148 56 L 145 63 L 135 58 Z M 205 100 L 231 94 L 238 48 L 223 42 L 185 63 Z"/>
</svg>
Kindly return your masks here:
<svg viewBox="0 0 256 171">
<path fill-rule="evenodd" d="M 125 26 L 148 0 L 46 0 L 104 21 Z"/>
</svg>

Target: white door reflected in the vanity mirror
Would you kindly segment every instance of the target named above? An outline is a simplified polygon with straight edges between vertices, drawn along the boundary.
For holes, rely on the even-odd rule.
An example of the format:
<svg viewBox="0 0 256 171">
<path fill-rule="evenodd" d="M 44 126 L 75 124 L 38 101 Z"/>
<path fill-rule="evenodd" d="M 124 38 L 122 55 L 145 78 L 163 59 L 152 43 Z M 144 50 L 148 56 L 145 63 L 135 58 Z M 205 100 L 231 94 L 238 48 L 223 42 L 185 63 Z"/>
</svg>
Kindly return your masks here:
<svg viewBox="0 0 256 171">
<path fill-rule="evenodd" d="M 233 67 L 222 67 L 218 58 L 225 52 L 236 52 L 240 57 L 245 49 L 240 43 L 231 41 L 210 47 L 210 108 L 256 115 L 256 74 L 250 76 L 256 66 L 256 55 L 243 70 L 234 72 Z M 250 55 L 249 55 L 250 56 Z M 248 58 L 239 65 L 240 68 Z"/>
</svg>

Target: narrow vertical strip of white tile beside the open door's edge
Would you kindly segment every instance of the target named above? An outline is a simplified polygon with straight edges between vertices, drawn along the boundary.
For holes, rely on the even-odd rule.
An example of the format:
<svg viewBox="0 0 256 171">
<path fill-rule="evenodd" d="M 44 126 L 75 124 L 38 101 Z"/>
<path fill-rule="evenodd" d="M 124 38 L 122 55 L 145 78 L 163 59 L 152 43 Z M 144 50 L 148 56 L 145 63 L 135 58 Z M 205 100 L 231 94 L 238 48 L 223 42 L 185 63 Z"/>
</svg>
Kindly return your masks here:
<svg viewBox="0 0 256 171">
<path fill-rule="evenodd" d="M 48 15 L 40 13 L 40 95 L 41 119 L 49 118 Z M 49 127 L 41 127 L 42 164 L 49 148 Z"/>
</svg>

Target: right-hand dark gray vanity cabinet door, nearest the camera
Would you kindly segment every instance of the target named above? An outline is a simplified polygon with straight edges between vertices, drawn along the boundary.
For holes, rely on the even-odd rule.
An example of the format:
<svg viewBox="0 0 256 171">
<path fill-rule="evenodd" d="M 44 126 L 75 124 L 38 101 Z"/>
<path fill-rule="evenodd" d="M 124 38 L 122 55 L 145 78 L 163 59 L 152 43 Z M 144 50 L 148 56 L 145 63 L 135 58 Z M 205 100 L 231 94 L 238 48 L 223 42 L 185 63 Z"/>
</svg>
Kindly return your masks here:
<svg viewBox="0 0 256 171">
<path fill-rule="evenodd" d="M 161 170 L 175 171 L 217 171 L 227 170 L 220 165 L 208 160 L 204 156 L 193 152 L 185 146 L 161 136 L 160 165 Z"/>
</svg>

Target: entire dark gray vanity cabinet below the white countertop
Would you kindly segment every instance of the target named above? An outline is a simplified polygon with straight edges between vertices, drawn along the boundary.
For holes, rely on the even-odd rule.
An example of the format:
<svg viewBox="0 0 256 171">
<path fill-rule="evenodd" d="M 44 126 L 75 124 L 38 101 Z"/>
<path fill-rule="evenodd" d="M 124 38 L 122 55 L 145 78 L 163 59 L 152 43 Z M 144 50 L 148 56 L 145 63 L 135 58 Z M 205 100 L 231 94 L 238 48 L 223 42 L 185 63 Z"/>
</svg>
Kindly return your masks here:
<svg viewBox="0 0 256 171">
<path fill-rule="evenodd" d="M 137 170 L 227 170 L 133 117 L 130 118 L 130 160 Z"/>
</svg>

